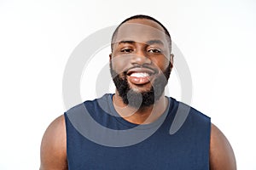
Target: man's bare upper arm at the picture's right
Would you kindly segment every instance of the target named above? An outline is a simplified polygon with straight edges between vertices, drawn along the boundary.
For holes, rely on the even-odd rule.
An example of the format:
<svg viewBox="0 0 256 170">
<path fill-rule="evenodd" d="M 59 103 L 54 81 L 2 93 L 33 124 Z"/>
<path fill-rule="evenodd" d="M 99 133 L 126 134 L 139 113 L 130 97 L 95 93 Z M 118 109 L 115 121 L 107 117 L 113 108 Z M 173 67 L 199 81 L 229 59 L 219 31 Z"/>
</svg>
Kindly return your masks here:
<svg viewBox="0 0 256 170">
<path fill-rule="evenodd" d="M 213 124 L 210 142 L 210 169 L 236 170 L 236 158 L 230 142 L 224 133 Z"/>
</svg>

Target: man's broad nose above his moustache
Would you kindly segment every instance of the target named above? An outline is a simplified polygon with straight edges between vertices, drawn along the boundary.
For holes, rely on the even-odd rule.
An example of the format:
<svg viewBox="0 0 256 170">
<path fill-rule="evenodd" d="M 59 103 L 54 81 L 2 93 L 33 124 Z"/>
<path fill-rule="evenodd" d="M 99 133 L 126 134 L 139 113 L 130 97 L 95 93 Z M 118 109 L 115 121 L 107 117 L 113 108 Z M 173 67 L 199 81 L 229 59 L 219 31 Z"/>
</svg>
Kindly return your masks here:
<svg viewBox="0 0 256 170">
<path fill-rule="evenodd" d="M 145 65 L 151 64 L 151 59 L 148 58 L 147 51 L 137 50 L 136 53 L 132 56 L 131 64 L 133 65 Z"/>
</svg>

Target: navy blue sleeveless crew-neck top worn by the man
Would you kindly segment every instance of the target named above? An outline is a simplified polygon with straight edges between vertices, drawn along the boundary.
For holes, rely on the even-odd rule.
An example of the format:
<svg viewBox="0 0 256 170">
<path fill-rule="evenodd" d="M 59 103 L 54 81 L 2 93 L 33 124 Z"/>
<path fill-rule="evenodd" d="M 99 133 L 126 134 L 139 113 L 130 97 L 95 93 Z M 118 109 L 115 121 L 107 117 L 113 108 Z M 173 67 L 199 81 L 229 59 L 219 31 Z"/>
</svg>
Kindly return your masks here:
<svg viewBox="0 0 256 170">
<path fill-rule="evenodd" d="M 68 169 L 209 169 L 208 116 L 168 98 L 157 121 L 137 125 L 119 116 L 112 97 L 105 94 L 65 112 Z"/>
</svg>

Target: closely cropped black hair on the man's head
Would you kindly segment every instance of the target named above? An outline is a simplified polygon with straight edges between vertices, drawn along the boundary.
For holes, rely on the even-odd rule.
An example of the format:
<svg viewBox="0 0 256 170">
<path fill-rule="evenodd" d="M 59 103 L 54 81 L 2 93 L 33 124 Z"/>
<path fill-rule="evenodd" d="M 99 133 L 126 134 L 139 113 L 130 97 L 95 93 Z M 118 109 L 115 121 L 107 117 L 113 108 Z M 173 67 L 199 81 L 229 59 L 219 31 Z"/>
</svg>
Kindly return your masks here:
<svg viewBox="0 0 256 170">
<path fill-rule="evenodd" d="M 128 20 L 135 20 L 135 19 L 146 19 L 146 20 L 153 20 L 154 22 L 156 22 L 157 24 L 159 24 L 165 31 L 166 33 L 166 40 L 169 43 L 169 49 L 170 49 L 170 53 L 172 52 L 172 38 L 171 35 L 169 33 L 169 31 L 166 29 L 166 27 L 164 25 L 162 25 L 162 23 L 160 23 L 159 20 L 154 19 L 151 16 L 145 15 L 145 14 L 137 14 L 137 15 L 133 15 L 127 19 L 125 19 L 124 21 L 122 21 L 119 26 L 117 26 L 117 28 L 113 31 L 113 35 L 111 38 L 111 50 L 113 51 L 113 39 L 116 36 L 117 32 L 119 31 L 119 27 L 122 26 L 125 22 L 127 22 Z"/>
</svg>

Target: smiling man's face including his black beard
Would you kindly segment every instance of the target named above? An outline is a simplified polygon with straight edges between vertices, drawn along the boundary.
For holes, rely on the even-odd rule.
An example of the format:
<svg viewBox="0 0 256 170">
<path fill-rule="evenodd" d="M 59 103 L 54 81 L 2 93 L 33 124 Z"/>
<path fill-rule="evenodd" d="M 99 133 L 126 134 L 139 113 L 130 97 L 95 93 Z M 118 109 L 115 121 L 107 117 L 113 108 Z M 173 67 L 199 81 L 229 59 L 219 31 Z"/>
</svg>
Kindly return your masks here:
<svg viewBox="0 0 256 170">
<path fill-rule="evenodd" d="M 113 41 L 110 69 L 119 96 L 133 107 L 153 105 L 172 70 L 164 29 L 152 20 L 129 20 Z"/>
</svg>

